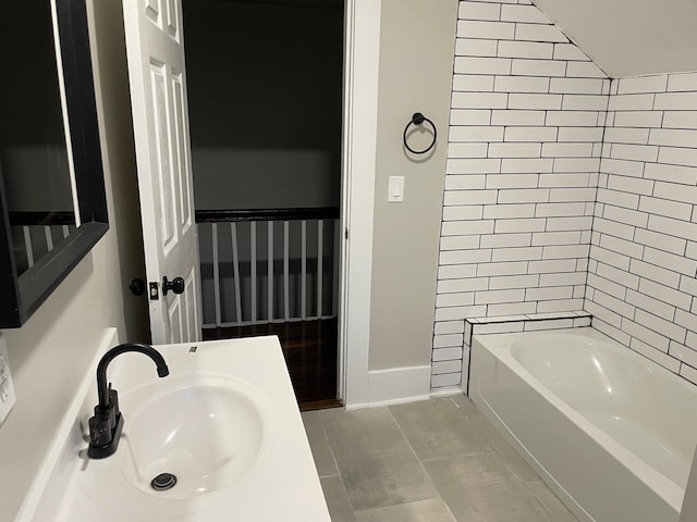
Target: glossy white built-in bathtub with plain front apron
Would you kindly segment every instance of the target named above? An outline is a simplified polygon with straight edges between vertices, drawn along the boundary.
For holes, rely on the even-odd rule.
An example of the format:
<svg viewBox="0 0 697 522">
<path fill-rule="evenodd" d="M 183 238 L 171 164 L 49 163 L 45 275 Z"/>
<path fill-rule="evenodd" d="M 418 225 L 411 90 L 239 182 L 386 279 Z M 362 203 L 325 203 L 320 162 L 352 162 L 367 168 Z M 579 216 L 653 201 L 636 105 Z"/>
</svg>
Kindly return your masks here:
<svg viewBox="0 0 697 522">
<path fill-rule="evenodd" d="M 676 522 L 697 389 L 592 328 L 475 335 L 469 395 L 582 521 Z"/>
</svg>

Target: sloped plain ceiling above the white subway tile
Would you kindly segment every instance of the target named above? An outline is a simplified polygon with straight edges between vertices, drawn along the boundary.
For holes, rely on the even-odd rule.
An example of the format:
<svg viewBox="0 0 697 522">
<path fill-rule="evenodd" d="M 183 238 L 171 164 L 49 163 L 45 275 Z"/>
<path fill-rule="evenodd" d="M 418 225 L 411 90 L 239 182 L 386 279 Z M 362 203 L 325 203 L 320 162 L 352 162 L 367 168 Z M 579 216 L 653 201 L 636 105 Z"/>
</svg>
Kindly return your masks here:
<svg viewBox="0 0 697 522">
<path fill-rule="evenodd" d="M 533 0 L 610 77 L 697 71 L 697 0 Z"/>
</svg>

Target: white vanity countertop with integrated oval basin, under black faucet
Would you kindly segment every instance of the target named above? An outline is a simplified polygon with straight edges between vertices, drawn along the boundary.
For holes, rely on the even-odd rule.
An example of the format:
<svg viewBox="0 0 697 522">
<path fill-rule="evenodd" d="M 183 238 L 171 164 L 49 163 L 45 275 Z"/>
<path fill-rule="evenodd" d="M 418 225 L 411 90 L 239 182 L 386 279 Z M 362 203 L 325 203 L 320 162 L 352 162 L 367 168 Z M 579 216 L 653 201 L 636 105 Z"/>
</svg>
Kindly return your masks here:
<svg viewBox="0 0 697 522">
<path fill-rule="evenodd" d="M 90 369 L 20 520 L 329 522 L 278 338 L 156 348 L 168 377 L 142 353 L 110 364 L 124 427 L 98 460 L 86 456 Z M 175 484 L 154 489 L 162 473 Z"/>
</svg>

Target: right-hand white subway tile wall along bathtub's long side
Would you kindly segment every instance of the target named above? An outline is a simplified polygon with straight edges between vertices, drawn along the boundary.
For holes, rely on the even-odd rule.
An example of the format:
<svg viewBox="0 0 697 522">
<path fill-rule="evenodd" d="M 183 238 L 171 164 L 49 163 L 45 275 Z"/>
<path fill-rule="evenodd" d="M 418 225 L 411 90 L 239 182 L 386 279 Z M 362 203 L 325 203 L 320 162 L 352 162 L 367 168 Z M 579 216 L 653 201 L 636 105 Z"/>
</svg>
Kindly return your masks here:
<svg viewBox="0 0 697 522">
<path fill-rule="evenodd" d="M 613 80 L 585 309 L 697 384 L 697 73 Z"/>
</svg>

